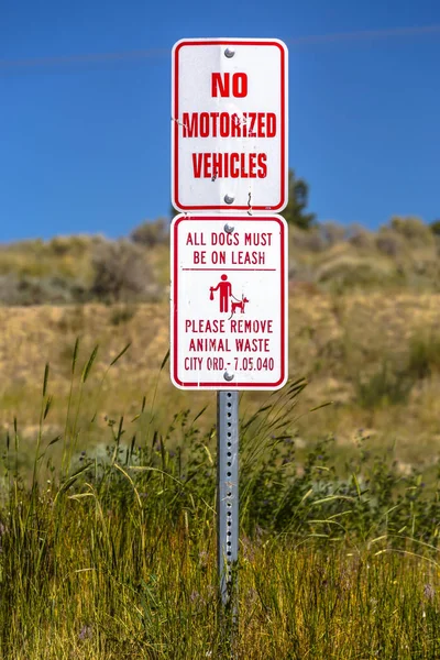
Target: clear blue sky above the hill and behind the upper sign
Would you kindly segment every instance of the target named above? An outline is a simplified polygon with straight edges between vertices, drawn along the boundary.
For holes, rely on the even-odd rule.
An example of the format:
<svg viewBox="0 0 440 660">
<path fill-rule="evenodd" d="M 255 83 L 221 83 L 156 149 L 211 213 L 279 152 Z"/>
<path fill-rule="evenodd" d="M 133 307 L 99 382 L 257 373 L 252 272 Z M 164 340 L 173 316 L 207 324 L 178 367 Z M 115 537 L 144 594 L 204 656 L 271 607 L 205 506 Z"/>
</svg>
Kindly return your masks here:
<svg viewBox="0 0 440 660">
<path fill-rule="evenodd" d="M 2 0 L 0 241 L 169 215 L 170 50 L 196 36 L 286 42 L 289 165 L 319 220 L 440 218 L 438 0 Z"/>
</svg>

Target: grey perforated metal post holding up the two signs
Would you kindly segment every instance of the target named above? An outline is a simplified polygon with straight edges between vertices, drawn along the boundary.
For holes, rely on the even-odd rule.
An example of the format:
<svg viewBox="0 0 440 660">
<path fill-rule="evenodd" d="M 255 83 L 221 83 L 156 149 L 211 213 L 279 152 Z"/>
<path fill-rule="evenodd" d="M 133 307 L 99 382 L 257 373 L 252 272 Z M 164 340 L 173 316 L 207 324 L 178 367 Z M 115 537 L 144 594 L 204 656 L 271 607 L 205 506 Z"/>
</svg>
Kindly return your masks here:
<svg viewBox="0 0 440 660">
<path fill-rule="evenodd" d="M 237 590 L 239 558 L 239 393 L 217 395 L 218 570 L 223 605 Z"/>
</svg>

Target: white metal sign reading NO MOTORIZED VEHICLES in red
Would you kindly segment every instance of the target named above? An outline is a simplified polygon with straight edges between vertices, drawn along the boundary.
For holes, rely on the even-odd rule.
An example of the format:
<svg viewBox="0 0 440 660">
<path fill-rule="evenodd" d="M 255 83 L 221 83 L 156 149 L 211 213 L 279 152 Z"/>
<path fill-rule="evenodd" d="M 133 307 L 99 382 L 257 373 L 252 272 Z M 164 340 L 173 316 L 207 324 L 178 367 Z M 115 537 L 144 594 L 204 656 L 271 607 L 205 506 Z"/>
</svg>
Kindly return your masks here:
<svg viewBox="0 0 440 660">
<path fill-rule="evenodd" d="M 172 198 L 182 211 L 287 205 L 287 47 L 182 40 L 173 48 Z"/>
</svg>

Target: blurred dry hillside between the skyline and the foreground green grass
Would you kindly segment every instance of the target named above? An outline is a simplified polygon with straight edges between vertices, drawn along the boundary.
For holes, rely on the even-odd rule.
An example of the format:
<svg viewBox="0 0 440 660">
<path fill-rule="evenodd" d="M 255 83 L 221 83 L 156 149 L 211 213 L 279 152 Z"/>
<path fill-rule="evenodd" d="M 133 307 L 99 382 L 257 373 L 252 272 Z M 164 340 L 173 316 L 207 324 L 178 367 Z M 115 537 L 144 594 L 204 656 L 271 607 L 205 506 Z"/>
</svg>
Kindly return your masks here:
<svg viewBox="0 0 440 660">
<path fill-rule="evenodd" d="M 289 228 L 289 375 L 308 381 L 289 429 L 299 451 L 334 436 L 344 460 L 360 438 L 369 437 L 373 448 L 394 447 L 402 470 L 431 464 L 437 457 L 440 239 L 433 230 L 416 218 L 394 218 L 377 232 L 336 223 Z M 196 414 L 205 406 L 200 424 L 210 428 L 215 395 L 176 391 L 168 367 L 160 371 L 168 350 L 168 283 L 164 219 L 118 241 L 58 237 L 3 245 L 3 432 L 12 432 L 16 417 L 24 447 L 33 443 L 46 363 L 54 394 L 47 438 L 67 428 L 77 338 L 70 416 L 81 391 L 79 367 L 99 346 L 80 394 L 78 451 L 102 446 L 110 437 L 109 420 L 111 427 L 124 416 L 128 425 L 144 396 L 145 410 L 128 433 L 166 433 L 174 414 Z M 256 409 L 267 396 L 244 393 L 242 410 Z"/>
</svg>

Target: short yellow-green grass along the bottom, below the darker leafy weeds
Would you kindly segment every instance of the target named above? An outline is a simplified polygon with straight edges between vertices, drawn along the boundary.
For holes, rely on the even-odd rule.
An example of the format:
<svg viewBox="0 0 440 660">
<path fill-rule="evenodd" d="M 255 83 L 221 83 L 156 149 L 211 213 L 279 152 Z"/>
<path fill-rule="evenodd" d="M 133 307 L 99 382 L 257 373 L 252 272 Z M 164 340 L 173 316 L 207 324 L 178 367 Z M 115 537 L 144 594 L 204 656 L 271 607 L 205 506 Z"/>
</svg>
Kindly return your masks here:
<svg viewBox="0 0 440 660">
<path fill-rule="evenodd" d="M 53 495 L 3 534 L 3 658 L 231 657 L 210 520 L 109 509 L 92 488 L 54 514 Z M 234 657 L 438 657 L 437 564 L 245 537 L 241 556 Z"/>
</svg>

